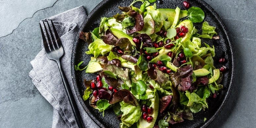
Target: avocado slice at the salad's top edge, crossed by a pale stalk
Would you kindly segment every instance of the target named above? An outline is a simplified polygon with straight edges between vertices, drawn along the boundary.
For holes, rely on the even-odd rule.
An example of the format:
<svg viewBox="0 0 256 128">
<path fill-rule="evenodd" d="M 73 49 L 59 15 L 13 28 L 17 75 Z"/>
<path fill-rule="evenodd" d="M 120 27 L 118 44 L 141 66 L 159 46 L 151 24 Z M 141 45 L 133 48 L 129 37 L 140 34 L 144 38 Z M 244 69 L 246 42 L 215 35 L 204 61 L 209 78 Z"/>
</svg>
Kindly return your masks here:
<svg viewBox="0 0 256 128">
<path fill-rule="evenodd" d="M 167 19 L 169 16 L 173 17 L 175 16 L 176 12 L 175 9 L 158 9 L 159 12 L 164 16 L 165 19 Z M 188 11 L 187 10 L 181 10 L 179 18 L 184 18 L 188 16 Z"/>
</svg>

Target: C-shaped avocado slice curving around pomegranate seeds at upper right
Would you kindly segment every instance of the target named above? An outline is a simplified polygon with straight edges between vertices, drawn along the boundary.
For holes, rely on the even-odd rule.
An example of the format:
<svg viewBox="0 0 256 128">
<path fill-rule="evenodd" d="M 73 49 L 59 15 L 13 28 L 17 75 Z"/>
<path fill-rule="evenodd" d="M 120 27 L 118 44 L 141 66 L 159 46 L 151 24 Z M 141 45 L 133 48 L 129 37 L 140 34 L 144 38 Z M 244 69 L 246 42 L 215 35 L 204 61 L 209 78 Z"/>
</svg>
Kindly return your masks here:
<svg viewBox="0 0 256 128">
<path fill-rule="evenodd" d="M 193 22 L 191 20 L 186 19 L 177 25 L 177 27 L 180 27 L 180 26 L 185 26 L 188 28 L 188 33 L 186 33 L 186 35 L 184 37 L 182 37 L 182 40 L 181 40 L 181 42 L 186 42 L 187 40 L 189 40 L 191 38 L 190 35 L 194 29 Z"/>
</svg>

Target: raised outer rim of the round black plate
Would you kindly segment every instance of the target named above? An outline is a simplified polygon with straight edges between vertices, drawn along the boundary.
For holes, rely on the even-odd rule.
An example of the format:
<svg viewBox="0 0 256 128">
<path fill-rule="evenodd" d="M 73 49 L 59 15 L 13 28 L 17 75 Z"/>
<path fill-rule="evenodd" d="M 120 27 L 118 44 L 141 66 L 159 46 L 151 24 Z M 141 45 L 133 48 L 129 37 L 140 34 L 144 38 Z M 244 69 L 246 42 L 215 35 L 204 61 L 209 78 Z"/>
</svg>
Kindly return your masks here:
<svg viewBox="0 0 256 128">
<path fill-rule="evenodd" d="M 91 16 L 94 15 L 95 12 L 97 12 L 98 9 L 100 9 L 102 6 L 104 6 L 106 3 L 108 3 L 109 1 L 111 0 L 103 0 L 101 1 L 99 4 L 97 4 L 92 10 L 91 12 L 88 14 L 88 16 L 86 17 L 86 20 L 84 21 L 84 24 L 86 24 L 86 22 L 88 22 L 88 20 L 91 18 Z M 220 16 L 215 12 L 215 10 L 210 6 L 208 5 L 206 2 L 204 2 L 203 0 L 196 0 L 198 3 L 200 3 L 201 5 L 203 5 L 212 15 L 213 17 L 218 21 L 217 23 L 221 26 L 221 28 L 223 29 L 223 32 L 224 32 L 224 35 L 227 37 L 227 42 L 226 44 L 230 47 L 230 53 L 231 53 L 231 78 L 230 78 L 230 84 L 228 84 L 228 90 L 227 90 L 227 94 L 225 95 L 225 97 L 223 98 L 223 102 L 221 103 L 220 107 L 217 109 L 216 112 L 214 112 L 214 114 L 212 115 L 211 118 L 207 119 L 206 122 L 204 122 L 203 125 L 201 125 L 200 127 L 206 127 L 208 126 L 217 116 L 218 114 L 222 111 L 222 109 L 225 107 L 229 97 L 230 97 L 230 94 L 231 94 L 231 91 L 233 89 L 233 86 L 234 86 L 234 77 L 235 77 L 235 69 L 236 69 L 236 63 L 235 63 L 235 51 L 234 51 L 234 46 L 233 46 L 233 43 L 231 41 L 231 37 L 230 37 L 230 34 L 228 32 L 228 29 L 226 27 L 226 25 L 224 24 L 224 22 L 222 21 L 222 19 L 220 18 Z M 82 26 L 84 30 L 85 26 Z M 76 48 L 77 48 L 77 44 L 79 42 L 79 39 L 77 40 L 77 42 L 75 42 L 73 44 L 73 47 L 72 47 L 72 55 L 71 55 L 71 75 L 72 75 L 72 82 L 73 82 L 73 86 L 74 86 L 74 89 L 75 89 L 75 93 L 76 93 L 76 96 L 79 100 L 79 103 L 82 105 L 84 111 L 89 115 L 89 117 L 92 119 L 93 122 L 95 122 L 95 124 L 97 124 L 99 127 L 106 127 L 104 124 L 102 124 L 100 121 L 95 121 L 93 119 L 93 117 L 91 117 L 91 115 L 86 111 L 86 106 L 84 104 L 84 100 L 81 98 L 80 96 L 80 93 L 79 93 L 79 90 L 78 90 L 78 87 L 77 87 L 77 82 L 76 82 L 76 78 L 74 77 L 75 76 L 75 69 L 74 69 L 74 60 L 75 60 L 75 54 L 76 54 Z M 230 70 L 230 69 L 229 69 Z"/>
</svg>

